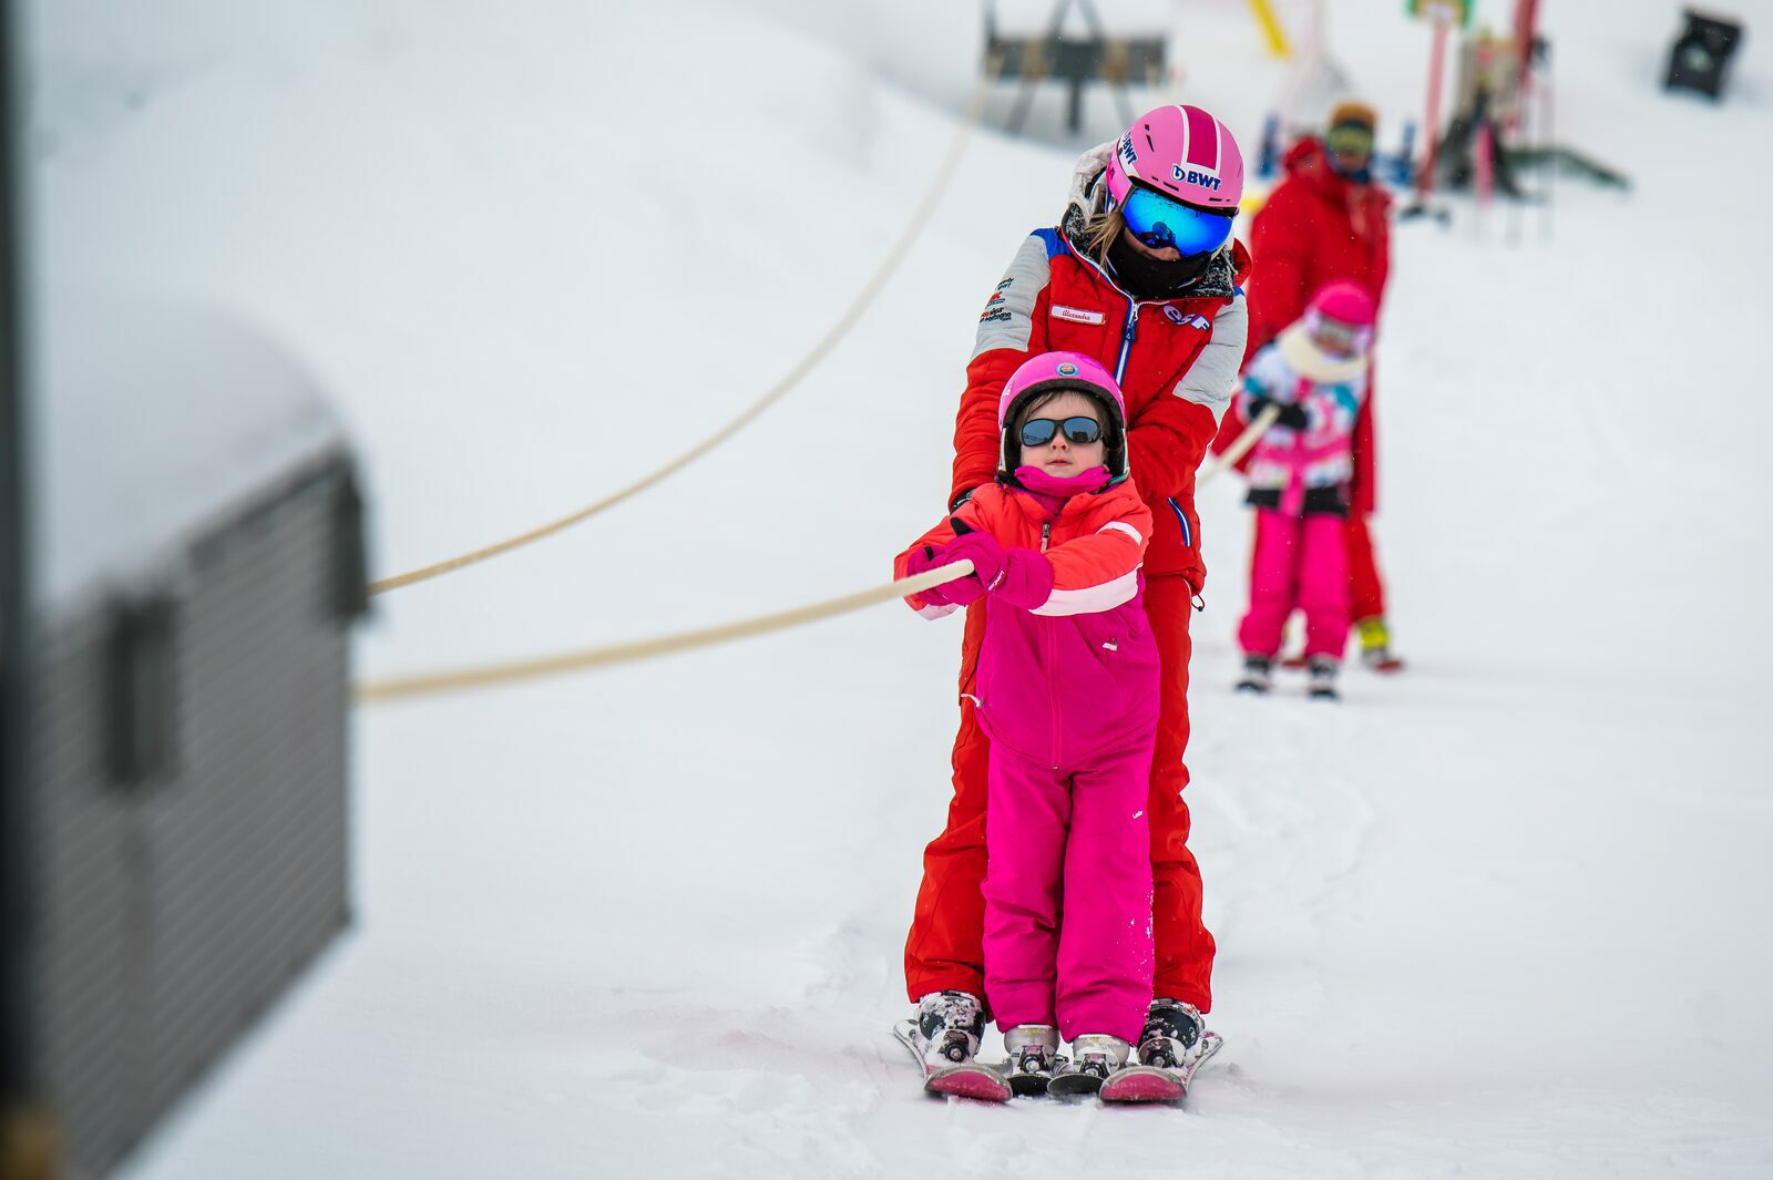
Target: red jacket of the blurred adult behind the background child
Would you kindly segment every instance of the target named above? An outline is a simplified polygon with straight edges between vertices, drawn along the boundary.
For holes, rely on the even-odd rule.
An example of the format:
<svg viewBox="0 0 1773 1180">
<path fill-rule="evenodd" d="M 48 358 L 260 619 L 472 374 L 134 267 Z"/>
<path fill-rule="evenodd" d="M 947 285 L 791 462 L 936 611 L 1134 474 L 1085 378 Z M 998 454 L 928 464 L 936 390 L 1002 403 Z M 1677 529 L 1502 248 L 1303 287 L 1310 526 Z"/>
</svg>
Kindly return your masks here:
<svg viewBox="0 0 1773 1180">
<path fill-rule="evenodd" d="M 1269 193 L 1250 229 L 1255 268 L 1246 360 L 1298 321 L 1324 283 L 1347 278 L 1365 287 L 1378 305 L 1390 275 L 1390 193 L 1379 184 L 1353 184 L 1337 175 L 1314 138 L 1287 151 L 1285 168 L 1287 177 Z M 1227 415 L 1215 446 L 1229 446 L 1245 425 L 1236 413 Z M 1358 514 L 1378 507 L 1376 448 L 1369 379 L 1367 400 L 1355 422 L 1351 498 Z"/>
</svg>

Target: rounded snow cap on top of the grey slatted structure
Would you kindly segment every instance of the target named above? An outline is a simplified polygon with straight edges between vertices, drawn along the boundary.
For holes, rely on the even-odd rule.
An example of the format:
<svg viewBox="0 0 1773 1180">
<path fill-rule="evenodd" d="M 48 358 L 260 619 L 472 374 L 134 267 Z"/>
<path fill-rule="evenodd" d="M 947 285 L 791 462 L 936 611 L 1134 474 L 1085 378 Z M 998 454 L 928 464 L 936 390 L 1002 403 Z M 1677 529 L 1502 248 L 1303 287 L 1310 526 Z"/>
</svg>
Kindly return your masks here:
<svg viewBox="0 0 1773 1180">
<path fill-rule="evenodd" d="M 232 315 L 59 291 L 34 344 L 51 609 L 176 567 L 206 528 L 342 445 L 307 374 Z"/>
</svg>

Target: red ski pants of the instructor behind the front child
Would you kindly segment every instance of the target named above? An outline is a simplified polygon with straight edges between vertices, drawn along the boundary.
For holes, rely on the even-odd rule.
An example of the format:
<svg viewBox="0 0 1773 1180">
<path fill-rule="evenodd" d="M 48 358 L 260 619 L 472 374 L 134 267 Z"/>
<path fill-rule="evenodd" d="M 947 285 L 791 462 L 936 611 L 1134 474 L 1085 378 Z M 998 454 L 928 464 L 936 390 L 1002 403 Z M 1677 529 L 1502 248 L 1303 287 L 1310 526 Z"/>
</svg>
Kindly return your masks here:
<svg viewBox="0 0 1773 1180">
<path fill-rule="evenodd" d="M 1193 590 L 1184 578 L 1145 581 L 1145 615 L 1158 641 L 1158 737 L 1151 757 L 1154 994 L 1181 999 L 1200 1012 L 1213 1006 L 1213 935 L 1200 921 L 1200 866 L 1188 850 L 1188 618 Z M 924 849 L 924 882 L 917 891 L 911 934 L 904 943 L 906 994 L 957 989 L 984 994 L 986 799 L 989 742 L 973 718 L 973 668 L 984 638 L 984 602 L 966 608 L 961 647 L 961 730 L 954 739 L 954 799 L 949 826 Z"/>
</svg>

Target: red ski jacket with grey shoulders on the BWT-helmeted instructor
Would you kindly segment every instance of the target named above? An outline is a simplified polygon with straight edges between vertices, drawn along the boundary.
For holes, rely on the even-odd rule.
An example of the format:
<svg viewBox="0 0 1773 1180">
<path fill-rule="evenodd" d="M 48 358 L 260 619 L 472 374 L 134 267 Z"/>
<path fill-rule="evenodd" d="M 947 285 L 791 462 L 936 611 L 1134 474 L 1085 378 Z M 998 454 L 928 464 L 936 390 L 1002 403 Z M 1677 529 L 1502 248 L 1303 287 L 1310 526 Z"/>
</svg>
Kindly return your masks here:
<svg viewBox="0 0 1773 1180">
<path fill-rule="evenodd" d="M 1183 299 L 1135 299 L 1064 229 L 1035 230 L 979 315 L 966 392 L 954 420 L 949 503 L 998 473 L 998 395 L 1030 356 L 1094 356 L 1126 397 L 1128 466 L 1151 507 L 1145 574 L 1181 574 L 1199 590 L 1195 468 L 1230 404 L 1245 353 L 1243 283 L 1250 255 L 1222 250 Z"/>
</svg>

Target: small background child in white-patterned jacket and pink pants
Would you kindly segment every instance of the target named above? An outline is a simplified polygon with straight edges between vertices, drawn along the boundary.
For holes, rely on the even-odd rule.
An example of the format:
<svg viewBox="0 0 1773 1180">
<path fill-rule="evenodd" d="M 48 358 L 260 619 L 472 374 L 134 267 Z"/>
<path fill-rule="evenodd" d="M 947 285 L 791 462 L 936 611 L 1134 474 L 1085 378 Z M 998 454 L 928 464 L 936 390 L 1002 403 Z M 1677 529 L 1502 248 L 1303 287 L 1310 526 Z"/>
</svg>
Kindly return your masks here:
<svg viewBox="0 0 1773 1180">
<path fill-rule="evenodd" d="M 1328 283 L 1312 296 L 1305 315 L 1245 369 L 1238 395 L 1245 422 L 1269 406 L 1280 416 L 1245 470 L 1257 516 L 1250 613 L 1238 627 L 1243 691 L 1269 689 L 1282 627 L 1300 609 L 1310 695 L 1337 698 L 1349 627 L 1344 523 L 1372 321 L 1372 298 L 1360 285 Z"/>
</svg>

